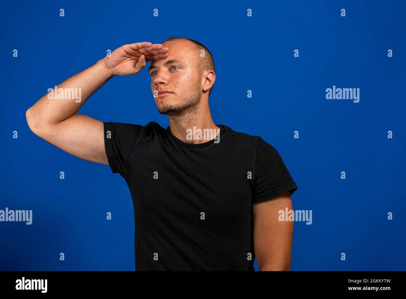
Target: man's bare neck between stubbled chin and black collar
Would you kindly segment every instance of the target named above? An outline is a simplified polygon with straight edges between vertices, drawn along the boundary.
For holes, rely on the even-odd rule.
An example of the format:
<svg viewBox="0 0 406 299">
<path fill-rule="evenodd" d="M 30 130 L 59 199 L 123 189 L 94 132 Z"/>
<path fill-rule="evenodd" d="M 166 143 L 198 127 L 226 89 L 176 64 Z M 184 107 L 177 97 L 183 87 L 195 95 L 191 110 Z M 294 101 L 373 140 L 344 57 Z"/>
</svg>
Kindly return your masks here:
<svg viewBox="0 0 406 299">
<path fill-rule="evenodd" d="M 212 140 L 220 133 L 220 128 L 214 124 L 208 104 L 205 105 L 205 102 L 202 101 L 200 105 L 192 108 L 192 111 L 186 110 L 182 115 L 169 116 L 169 125 L 172 134 L 179 140 L 191 144 Z M 195 136 L 197 138 L 190 139 L 191 136 L 194 136 L 193 132 L 198 132 L 199 129 L 201 129 L 202 134 L 196 134 Z M 213 134 L 204 134 L 205 129 L 213 130 Z M 192 132 L 192 134 L 190 134 L 190 132 Z"/>
</svg>

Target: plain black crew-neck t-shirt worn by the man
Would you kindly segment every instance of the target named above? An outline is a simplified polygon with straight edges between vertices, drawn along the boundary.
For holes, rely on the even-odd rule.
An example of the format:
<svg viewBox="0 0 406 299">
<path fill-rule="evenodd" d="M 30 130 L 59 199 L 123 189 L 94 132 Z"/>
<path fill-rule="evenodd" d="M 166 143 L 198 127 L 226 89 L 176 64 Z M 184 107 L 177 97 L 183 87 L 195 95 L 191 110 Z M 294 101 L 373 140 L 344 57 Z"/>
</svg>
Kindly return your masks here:
<svg viewBox="0 0 406 299">
<path fill-rule="evenodd" d="M 273 146 L 217 126 L 219 140 L 190 144 L 156 122 L 104 122 L 134 204 L 136 271 L 254 271 L 252 203 L 298 187 Z"/>
</svg>

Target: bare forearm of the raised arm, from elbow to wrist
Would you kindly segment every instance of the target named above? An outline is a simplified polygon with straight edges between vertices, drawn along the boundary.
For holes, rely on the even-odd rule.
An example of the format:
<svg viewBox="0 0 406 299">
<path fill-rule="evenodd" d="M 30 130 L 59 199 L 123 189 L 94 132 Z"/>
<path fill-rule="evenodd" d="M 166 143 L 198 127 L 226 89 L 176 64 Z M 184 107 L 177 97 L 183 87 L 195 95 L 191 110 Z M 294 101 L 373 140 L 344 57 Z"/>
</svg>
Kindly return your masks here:
<svg viewBox="0 0 406 299">
<path fill-rule="evenodd" d="M 105 67 L 103 59 L 97 61 L 86 70 L 58 84 L 57 90 L 48 92 L 40 98 L 28 111 L 30 119 L 37 126 L 57 124 L 66 120 L 75 114 L 86 99 L 112 76 L 112 72 Z M 79 99 L 71 97 L 69 91 L 72 89 L 76 96 L 80 95 Z M 61 91 L 63 94 L 60 93 Z M 60 97 L 63 95 L 63 99 L 58 98 L 58 94 Z"/>
</svg>

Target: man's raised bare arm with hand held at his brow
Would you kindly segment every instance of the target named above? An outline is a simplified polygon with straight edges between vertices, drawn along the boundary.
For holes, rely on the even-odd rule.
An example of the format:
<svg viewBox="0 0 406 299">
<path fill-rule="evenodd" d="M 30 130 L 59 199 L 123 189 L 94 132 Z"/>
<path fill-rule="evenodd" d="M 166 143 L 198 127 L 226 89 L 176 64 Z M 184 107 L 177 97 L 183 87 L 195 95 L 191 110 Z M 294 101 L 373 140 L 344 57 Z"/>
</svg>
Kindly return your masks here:
<svg viewBox="0 0 406 299">
<path fill-rule="evenodd" d="M 152 61 L 166 57 L 162 44 L 140 42 L 117 48 L 111 57 L 70 77 L 40 98 L 26 111 L 28 126 L 42 139 L 76 157 L 108 164 L 104 148 L 103 122 L 76 111 L 115 75 L 138 74 Z"/>
</svg>

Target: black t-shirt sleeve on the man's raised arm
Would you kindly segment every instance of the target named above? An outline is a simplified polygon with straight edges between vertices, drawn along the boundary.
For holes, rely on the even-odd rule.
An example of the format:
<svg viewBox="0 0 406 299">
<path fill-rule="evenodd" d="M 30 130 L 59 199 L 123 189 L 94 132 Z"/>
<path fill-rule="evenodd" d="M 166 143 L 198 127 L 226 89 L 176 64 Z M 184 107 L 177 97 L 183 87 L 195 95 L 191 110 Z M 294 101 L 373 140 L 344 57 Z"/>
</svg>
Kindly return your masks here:
<svg viewBox="0 0 406 299">
<path fill-rule="evenodd" d="M 128 158 L 132 151 L 148 137 L 147 126 L 121 122 L 103 122 L 104 148 L 113 173 L 127 175 Z"/>
</svg>

